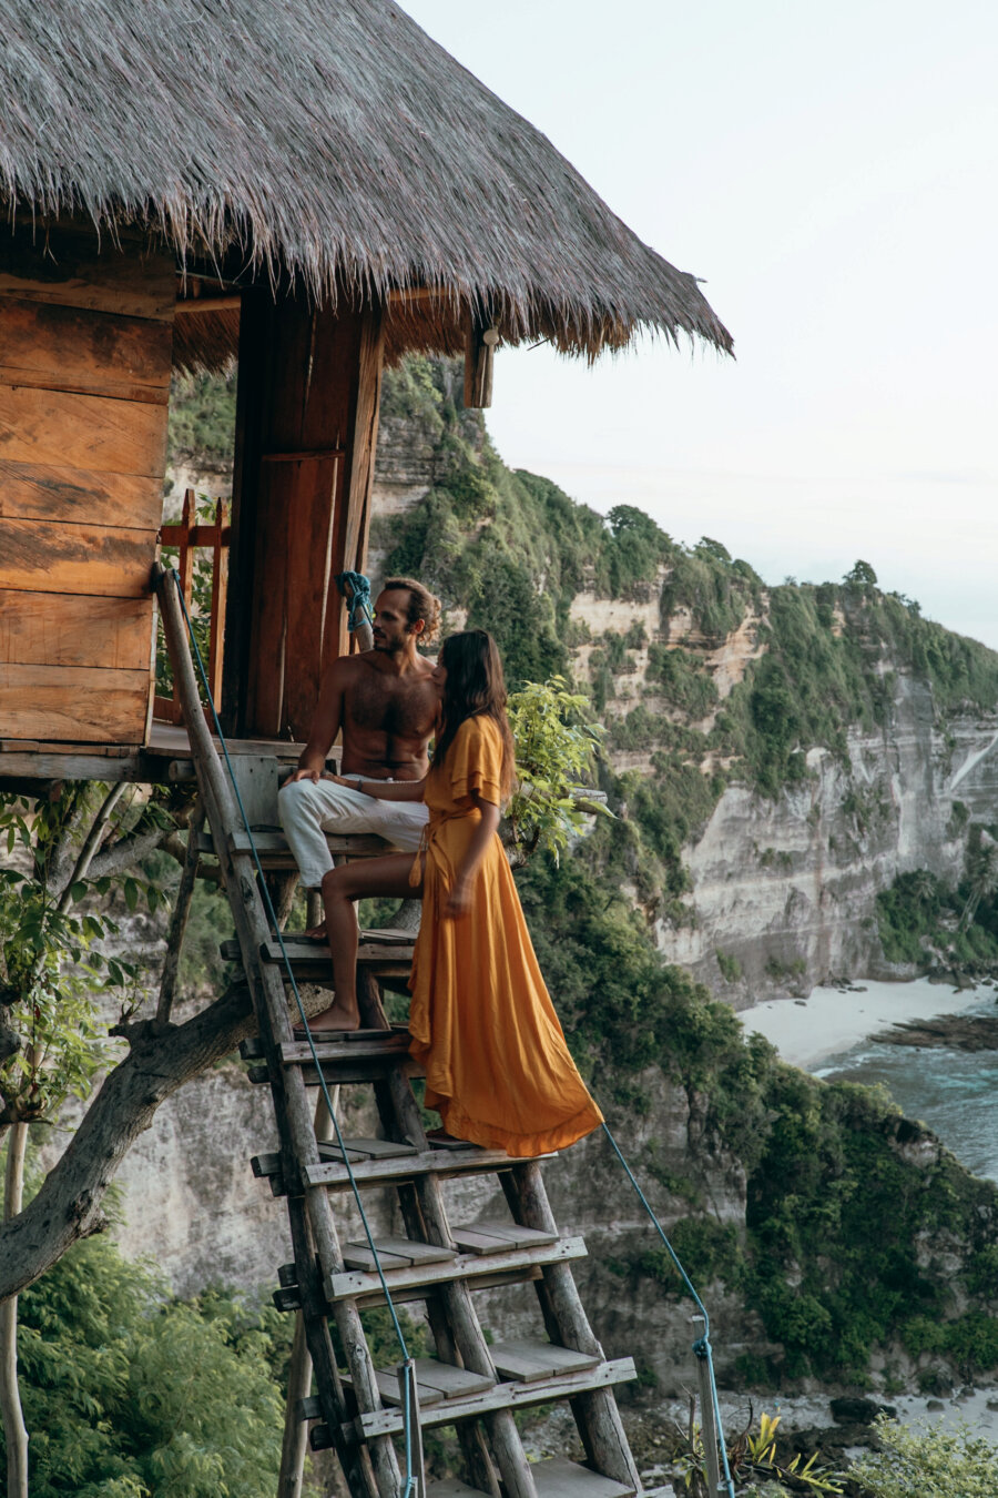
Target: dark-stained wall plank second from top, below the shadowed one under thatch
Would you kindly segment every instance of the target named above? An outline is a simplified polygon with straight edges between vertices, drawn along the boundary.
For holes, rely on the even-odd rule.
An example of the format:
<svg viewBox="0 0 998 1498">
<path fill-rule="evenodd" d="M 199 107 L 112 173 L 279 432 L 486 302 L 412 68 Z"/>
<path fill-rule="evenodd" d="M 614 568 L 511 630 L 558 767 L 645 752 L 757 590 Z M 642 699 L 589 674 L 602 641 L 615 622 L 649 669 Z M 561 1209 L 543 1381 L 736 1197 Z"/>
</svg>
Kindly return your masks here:
<svg viewBox="0 0 998 1498">
<path fill-rule="evenodd" d="M 0 383 L 166 400 L 169 322 L 0 298 Z M 130 394 L 135 391 L 136 394 Z"/>
</svg>

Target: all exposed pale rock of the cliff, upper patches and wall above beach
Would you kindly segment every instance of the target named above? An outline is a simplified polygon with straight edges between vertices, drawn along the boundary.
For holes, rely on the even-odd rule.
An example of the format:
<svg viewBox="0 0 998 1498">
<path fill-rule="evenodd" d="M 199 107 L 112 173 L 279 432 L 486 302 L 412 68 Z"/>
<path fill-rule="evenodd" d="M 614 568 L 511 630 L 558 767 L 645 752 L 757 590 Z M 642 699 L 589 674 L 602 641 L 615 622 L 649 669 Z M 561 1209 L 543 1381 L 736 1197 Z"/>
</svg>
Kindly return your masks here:
<svg viewBox="0 0 998 1498">
<path fill-rule="evenodd" d="M 434 488 L 440 493 L 447 484 L 441 469 L 452 464 L 422 415 L 392 418 L 385 439 L 373 503 L 376 586 L 391 538 Z M 691 730 L 702 749 L 687 753 L 694 762 L 699 755 L 705 779 L 721 770 L 729 780 L 706 822 L 684 842 L 681 908 L 673 902 L 654 917 L 663 954 L 738 1008 L 774 993 L 806 993 L 829 978 L 913 977 L 913 966 L 883 957 L 875 897 L 914 869 L 959 881 L 968 827 L 997 819 L 998 710 L 943 709 L 928 674 L 883 643 L 865 641 L 883 697 L 880 721 L 839 724 L 838 752 L 808 745 L 803 734 L 805 773 L 762 794 L 738 764 L 730 770 L 733 759 L 718 750 L 712 731 L 732 694 L 774 649 L 769 592 L 759 584 L 733 628 L 705 632 L 697 608 L 676 602 L 667 562 L 622 596 L 600 589 L 593 568 L 585 571 L 561 635 L 569 670 L 590 686 L 607 725 L 612 768 L 654 785 L 673 731 Z M 545 572 L 534 581 L 543 592 Z M 450 623 L 464 623 L 464 610 L 453 598 L 447 604 Z M 835 605 L 830 637 L 862 628 Z M 706 706 L 678 707 L 661 688 L 663 653 L 690 662 L 706 682 Z M 636 718 L 637 734 L 628 731 Z"/>
</svg>

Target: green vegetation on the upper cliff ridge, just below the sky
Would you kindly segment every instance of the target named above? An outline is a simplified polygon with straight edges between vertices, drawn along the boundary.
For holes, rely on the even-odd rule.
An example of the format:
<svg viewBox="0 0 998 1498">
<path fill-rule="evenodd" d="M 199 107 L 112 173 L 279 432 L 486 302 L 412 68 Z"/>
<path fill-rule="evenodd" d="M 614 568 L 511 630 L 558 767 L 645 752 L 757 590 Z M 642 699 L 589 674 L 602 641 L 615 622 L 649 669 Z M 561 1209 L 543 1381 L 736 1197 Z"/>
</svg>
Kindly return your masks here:
<svg viewBox="0 0 998 1498">
<path fill-rule="evenodd" d="M 998 655 L 881 592 L 868 563 L 842 583 L 768 589 L 718 541 L 685 547 L 630 505 L 603 518 L 549 479 L 512 472 L 482 413 L 461 409 L 456 391 L 458 367 L 447 361 L 410 360 L 386 374 L 383 415 L 432 448 L 434 482 L 404 515 L 377 520 L 374 539 L 389 571 L 420 577 L 450 611 L 492 631 L 512 685 L 567 674 L 572 649 L 591 646 L 581 685 L 609 748 L 651 759 L 651 773 L 607 774 L 604 785 L 630 816 L 630 863 L 649 915 L 687 918 L 681 849 L 726 785 L 775 797 L 806 780 L 812 748 L 847 765 L 847 731 L 886 724 L 898 670 L 931 685 L 941 716 L 998 701 Z M 572 617 L 584 590 L 636 607 L 658 592 L 663 625 L 688 617 L 687 637 L 649 641 L 636 622 L 628 634 L 591 640 Z M 721 700 L 709 652 L 735 631 L 756 658 Z M 616 698 L 621 679 L 636 700 Z"/>
</svg>

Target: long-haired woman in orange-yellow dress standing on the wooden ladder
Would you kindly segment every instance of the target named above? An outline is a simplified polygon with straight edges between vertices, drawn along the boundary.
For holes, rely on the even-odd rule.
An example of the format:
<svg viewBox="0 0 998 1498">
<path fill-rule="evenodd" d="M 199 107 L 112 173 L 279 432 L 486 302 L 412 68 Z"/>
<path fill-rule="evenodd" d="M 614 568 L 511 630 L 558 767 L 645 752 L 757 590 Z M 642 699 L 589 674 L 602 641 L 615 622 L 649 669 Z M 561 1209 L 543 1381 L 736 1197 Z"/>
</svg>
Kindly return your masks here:
<svg viewBox="0 0 998 1498">
<path fill-rule="evenodd" d="M 362 786 L 385 800 L 425 798 L 423 846 L 323 879 L 337 998 L 313 1029 L 359 1025 L 352 902 L 419 894 L 408 1028 L 426 1106 L 447 1134 L 474 1144 L 518 1156 L 564 1149 L 603 1116 L 566 1046 L 497 836 L 515 762 L 495 641 L 483 629 L 450 635 L 434 674 L 443 709 L 426 779 Z"/>
</svg>

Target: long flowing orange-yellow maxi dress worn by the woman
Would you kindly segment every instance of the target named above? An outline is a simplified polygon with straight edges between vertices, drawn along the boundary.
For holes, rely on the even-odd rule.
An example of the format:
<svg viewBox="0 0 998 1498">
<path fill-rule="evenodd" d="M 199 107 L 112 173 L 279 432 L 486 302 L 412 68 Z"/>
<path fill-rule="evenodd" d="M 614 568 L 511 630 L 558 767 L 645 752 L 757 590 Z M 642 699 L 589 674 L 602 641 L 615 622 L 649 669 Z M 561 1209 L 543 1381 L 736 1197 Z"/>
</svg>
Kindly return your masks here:
<svg viewBox="0 0 998 1498">
<path fill-rule="evenodd" d="M 410 1052 L 426 1070 L 426 1107 L 447 1132 L 525 1156 L 573 1144 L 603 1115 L 566 1046 L 498 836 L 474 876 L 470 912 L 441 918 L 482 819 L 470 792 L 500 804 L 501 761 L 492 719 L 468 718 L 426 779 L 408 1028 Z"/>
</svg>

